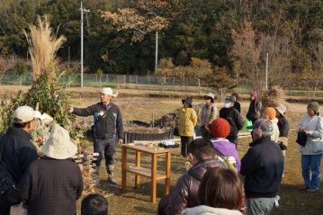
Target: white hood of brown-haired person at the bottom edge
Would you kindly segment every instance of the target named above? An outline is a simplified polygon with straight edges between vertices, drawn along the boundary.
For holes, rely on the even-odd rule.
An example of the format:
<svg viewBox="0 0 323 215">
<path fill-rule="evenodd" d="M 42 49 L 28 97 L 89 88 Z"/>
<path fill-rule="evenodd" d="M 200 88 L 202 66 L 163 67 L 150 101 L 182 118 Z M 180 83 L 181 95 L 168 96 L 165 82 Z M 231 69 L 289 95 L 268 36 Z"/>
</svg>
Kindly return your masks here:
<svg viewBox="0 0 323 215">
<path fill-rule="evenodd" d="M 188 208 L 184 210 L 184 215 L 242 215 L 240 211 L 229 210 L 222 208 L 211 208 L 206 205 L 200 205 L 193 208 Z"/>
</svg>

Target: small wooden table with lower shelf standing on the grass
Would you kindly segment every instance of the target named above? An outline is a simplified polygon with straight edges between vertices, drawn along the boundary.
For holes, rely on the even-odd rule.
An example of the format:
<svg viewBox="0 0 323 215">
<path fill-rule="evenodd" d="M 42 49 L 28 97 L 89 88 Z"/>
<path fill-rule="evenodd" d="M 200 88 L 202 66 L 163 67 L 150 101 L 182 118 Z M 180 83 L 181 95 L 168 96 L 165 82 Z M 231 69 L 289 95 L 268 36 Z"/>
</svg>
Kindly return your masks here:
<svg viewBox="0 0 323 215">
<path fill-rule="evenodd" d="M 134 150 L 136 152 L 136 166 L 127 166 L 127 150 Z M 151 168 L 144 168 L 140 166 L 141 152 L 147 153 L 151 156 Z M 165 174 L 157 173 L 157 156 L 166 156 L 166 171 Z M 140 176 L 151 179 L 151 202 L 156 202 L 157 180 L 165 179 L 165 194 L 169 194 L 170 186 L 170 149 L 166 148 L 148 148 L 136 146 L 132 144 L 122 145 L 122 165 L 121 165 L 121 186 L 124 193 L 127 186 L 127 172 L 135 174 L 135 187 L 139 187 Z"/>
</svg>

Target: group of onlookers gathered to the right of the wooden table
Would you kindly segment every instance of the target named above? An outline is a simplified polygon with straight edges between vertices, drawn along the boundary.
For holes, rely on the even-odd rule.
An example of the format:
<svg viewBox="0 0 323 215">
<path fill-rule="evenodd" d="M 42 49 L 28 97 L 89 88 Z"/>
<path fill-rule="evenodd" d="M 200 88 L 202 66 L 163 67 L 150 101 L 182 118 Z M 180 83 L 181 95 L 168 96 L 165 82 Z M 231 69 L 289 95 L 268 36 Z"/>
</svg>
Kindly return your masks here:
<svg viewBox="0 0 323 215">
<path fill-rule="evenodd" d="M 181 147 L 185 151 L 182 155 L 189 157 L 192 167 L 178 179 L 173 193 L 161 199 L 158 214 L 261 215 L 270 214 L 274 205 L 279 205 L 290 130 L 286 107 L 283 103 L 262 106 L 257 92 L 250 94 L 246 119 L 252 123 L 247 128 L 252 130 L 252 142 L 240 160 L 238 131 L 244 121 L 238 94 L 226 97 L 220 112 L 214 99 L 214 94 L 206 94 L 198 113 L 193 110 L 192 98 L 182 100 L 184 106 L 179 116 Z M 319 103 L 311 102 L 307 109 L 297 125 L 298 135 L 305 133 L 305 142 L 300 145 L 301 168 L 306 191 L 317 192 L 323 118 Z M 193 139 L 197 121 L 202 139 Z"/>
</svg>

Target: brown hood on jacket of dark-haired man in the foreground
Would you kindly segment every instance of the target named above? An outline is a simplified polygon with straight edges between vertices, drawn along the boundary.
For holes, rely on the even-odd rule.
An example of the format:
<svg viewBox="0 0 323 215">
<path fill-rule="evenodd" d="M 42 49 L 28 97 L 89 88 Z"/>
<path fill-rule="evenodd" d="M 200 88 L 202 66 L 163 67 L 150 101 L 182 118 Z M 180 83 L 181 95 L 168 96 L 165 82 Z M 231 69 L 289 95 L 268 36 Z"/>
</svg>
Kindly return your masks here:
<svg viewBox="0 0 323 215">
<path fill-rule="evenodd" d="M 188 171 L 189 175 L 192 175 L 194 178 L 198 180 L 202 180 L 202 176 L 204 173 L 211 167 L 223 166 L 223 163 L 220 161 L 218 157 L 205 159 L 192 166 Z"/>
</svg>

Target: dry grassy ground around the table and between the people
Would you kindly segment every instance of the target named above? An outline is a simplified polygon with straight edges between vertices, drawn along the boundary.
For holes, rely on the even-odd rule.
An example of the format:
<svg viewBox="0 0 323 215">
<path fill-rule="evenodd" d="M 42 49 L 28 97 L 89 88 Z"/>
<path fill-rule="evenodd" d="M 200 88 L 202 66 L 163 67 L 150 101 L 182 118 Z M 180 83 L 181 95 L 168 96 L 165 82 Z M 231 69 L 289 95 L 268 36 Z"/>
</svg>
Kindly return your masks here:
<svg viewBox="0 0 323 215">
<path fill-rule="evenodd" d="M 97 98 L 76 99 L 76 106 L 86 106 L 98 101 Z M 193 103 L 202 103 L 203 101 L 193 101 Z M 180 99 L 152 99 L 143 97 L 116 98 L 115 103 L 121 107 L 121 112 L 125 120 L 151 121 L 154 117 L 172 112 L 181 107 Z M 218 107 L 221 103 L 217 103 Z M 247 111 L 248 103 L 242 103 L 243 116 Z M 306 112 L 306 104 L 291 103 L 287 117 L 294 129 L 296 122 Z M 92 118 L 78 118 L 79 121 L 91 121 Z M 295 143 L 294 131 L 290 133 L 289 147 L 285 164 L 285 175 L 279 195 L 281 196 L 280 207 L 273 211 L 273 214 L 322 214 L 323 204 L 321 201 L 322 192 L 306 193 L 302 190 L 303 181 L 301 177 L 301 156 Z M 246 153 L 248 143 L 251 139 L 239 139 L 238 151 L 240 157 Z M 128 164 L 134 163 L 134 155 L 129 153 Z M 143 166 L 148 166 L 150 160 L 143 156 Z M 151 203 L 150 184 L 145 178 L 138 189 L 134 189 L 134 175 L 128 174 L 128 189 L 126 193 L 121 193 L 121 148 L 116 152 L 116 171 L 115 178 L 118 183 L 115 187 L 110 187 L 106 182 L 105 167 L 101 166 L 100 184 L 96 189 L 97 193 L 102 193 L 110 203 L 111 214 L 157 214 L 157 203 Z M 185 172 L 184 162 L 187 160 L 180 156 L 179 148 L 172 149 L 172 167 L 171 167 L 171 189 L 174 188 L 176 180 Z M 158 169 L 164 170 L 165 160 L 158 158 Z M 157 184 L 157 202 L 163 196 L 164 184 L 159 181 Z"/>
</svg>

